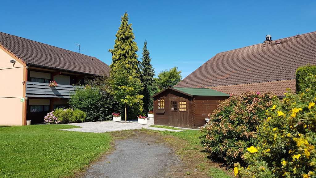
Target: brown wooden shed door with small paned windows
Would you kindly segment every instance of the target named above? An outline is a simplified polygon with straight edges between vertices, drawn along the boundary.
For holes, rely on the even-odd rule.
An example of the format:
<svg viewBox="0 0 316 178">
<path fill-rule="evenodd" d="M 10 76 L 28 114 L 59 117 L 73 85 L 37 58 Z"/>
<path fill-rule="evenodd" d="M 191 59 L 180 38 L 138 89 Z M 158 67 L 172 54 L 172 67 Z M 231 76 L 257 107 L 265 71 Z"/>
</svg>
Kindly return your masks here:
<svg viewBox="0 0 316 178">
<path fill-rule="evenodd" d="M 188 100 L 182 97 L 170 97 L 170 126 L 189 128 Z"/>
</svg>

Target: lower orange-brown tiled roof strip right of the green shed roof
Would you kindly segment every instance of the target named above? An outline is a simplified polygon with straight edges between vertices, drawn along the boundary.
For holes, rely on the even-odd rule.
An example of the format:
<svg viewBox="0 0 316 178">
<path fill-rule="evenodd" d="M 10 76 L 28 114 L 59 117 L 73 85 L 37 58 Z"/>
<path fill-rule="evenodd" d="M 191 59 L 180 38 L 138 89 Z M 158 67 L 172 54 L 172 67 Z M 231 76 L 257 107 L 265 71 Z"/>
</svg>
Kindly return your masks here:
<svg viewBox="0 0 316 178">
<path fill-rule="evenodd" d="M 212 86 L 210 87 L 213 90 L 217 90 L 224 93 L 229 93 L 233 95 L 239 95 L 243 92 L 252 91 L 252 92 L 271 92 L 273 91 L 277 96 L 284 96 L 284 93 L 287 92 L 287 88 L 292 89 L 292 92 L 295 92 L 295 79 L 289 80 L 277 80 L 270 82 L 260 82 L 260 83 L 250 83 L 250 84 L 238 84 L 238 85 L 226 85 L 226 86 Z"/>
</svg>

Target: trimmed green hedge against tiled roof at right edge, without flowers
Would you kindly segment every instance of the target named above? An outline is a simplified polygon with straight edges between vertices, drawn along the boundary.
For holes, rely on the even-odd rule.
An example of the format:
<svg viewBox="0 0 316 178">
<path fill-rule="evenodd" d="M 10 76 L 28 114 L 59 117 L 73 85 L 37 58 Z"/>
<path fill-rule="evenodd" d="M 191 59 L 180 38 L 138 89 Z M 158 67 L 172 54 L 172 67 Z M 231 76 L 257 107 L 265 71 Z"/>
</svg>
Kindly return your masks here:
<svg viewBox="0 0 316 178">
<path fill-rule="evenodd" d="M 316 66 L 307 65 L 296 70 L 296 92 L 305 91 L 310 88 L 311 81 L 306 79 L 308 75 L 316 75 Z"/>
</svg>

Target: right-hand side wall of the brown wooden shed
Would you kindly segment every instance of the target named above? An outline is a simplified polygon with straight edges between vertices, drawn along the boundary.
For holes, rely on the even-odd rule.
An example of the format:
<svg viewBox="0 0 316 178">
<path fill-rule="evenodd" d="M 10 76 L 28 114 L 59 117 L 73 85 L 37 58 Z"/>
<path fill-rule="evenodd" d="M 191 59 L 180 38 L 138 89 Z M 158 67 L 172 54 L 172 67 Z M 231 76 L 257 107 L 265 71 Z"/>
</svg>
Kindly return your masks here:
<svg viewBox="0 0 316 178">
<path fill-rule="evenodd" d="M 193 99 L 193 126 L 195 128 L 201 127 L 205 122 L 205 118 L 209 118 L 208 114 L 213 113 L 218 105 L 218 101 L 227 99 L 228 97 L 199 97 L 195 96 Z"/>
</svg>

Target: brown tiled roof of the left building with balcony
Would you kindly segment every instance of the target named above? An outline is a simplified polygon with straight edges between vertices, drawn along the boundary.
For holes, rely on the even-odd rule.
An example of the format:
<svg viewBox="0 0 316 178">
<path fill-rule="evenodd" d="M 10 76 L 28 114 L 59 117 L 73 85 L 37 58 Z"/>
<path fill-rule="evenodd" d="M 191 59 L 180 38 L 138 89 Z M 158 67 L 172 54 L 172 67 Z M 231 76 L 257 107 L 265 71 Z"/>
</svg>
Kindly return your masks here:
<svg viewBox="0 0 316 178">
<path fill-rule="evenodd" d="M 109 74 L 99 59 L 0 32 L 0 45 L 27 64 L 92 75 Z"/>
</svg>

